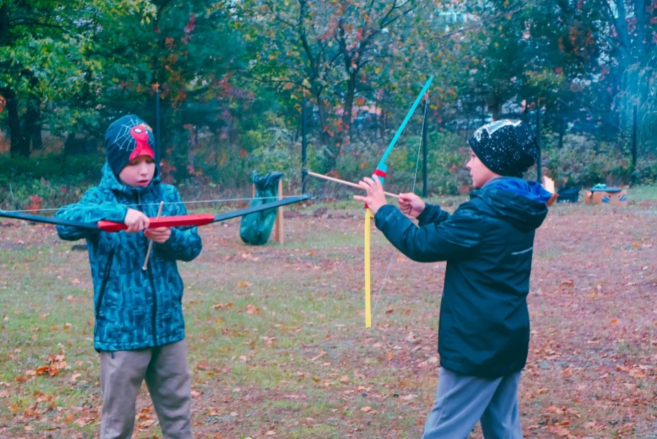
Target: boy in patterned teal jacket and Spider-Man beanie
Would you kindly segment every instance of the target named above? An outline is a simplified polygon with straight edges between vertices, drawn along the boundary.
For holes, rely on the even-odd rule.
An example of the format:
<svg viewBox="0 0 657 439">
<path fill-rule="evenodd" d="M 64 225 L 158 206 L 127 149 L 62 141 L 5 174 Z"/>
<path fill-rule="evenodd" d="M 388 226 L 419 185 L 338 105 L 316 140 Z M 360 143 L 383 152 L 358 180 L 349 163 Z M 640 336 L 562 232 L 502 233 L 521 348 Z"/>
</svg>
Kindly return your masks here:
<svg viewBox="0 0 657 439">
<path fill-rule="evenodd" d="M 101 184 L 57 212 L 73 221 L 125 223 L 107 233 L 57 226 L 65 240 L 85 238 L 94 281 L 94 347 L 101 355 L 101 439 L 129 439 L 142 381 L 151 393 L 166 439 L 191 439 L 191 379 L 187 364 L 177 260 L 201 253 L 196 227 L 149 229 L 149 217 L 186 214 L 178 191 L 159 178 L 153 131 L 123 116 L 105 134 Z M 142 269 L 149 247 L 153 249 Z"/>
</svg>

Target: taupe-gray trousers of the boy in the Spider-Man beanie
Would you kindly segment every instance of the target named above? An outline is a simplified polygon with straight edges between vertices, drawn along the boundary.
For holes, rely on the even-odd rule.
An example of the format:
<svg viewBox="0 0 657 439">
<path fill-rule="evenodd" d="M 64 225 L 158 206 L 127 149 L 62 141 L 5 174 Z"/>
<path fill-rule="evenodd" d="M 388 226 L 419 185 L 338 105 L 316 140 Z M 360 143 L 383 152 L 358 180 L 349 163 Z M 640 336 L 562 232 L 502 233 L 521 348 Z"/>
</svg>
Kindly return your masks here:
<svg viewBox="0 0 657 439">
<path fill-rule="evenodd" d="M 101 352 L 101 439 L 130 439 L 146 380 L 165 439 L 192 439 L 192 380 L 185 340 L 136 351 Z"/>
</svg>

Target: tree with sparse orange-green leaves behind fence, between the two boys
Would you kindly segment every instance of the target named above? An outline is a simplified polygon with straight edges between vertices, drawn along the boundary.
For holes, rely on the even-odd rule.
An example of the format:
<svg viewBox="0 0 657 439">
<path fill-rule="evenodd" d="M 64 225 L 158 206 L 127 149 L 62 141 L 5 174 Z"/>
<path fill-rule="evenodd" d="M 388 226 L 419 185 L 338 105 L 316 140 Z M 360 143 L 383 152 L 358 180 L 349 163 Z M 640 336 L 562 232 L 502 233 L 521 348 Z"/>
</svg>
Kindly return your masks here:
<svg viewBox="0 0 657 439">
<path fill-rule="evenodd" d="M 302 94 L 311 97 L 322 133 L 320 140 L 326 146 L 327 171 L 335 165 L 341 148 L 350 143 L 354 109 L 381 99 L 387 86 L 395 92 L 402 85 L 411 85 L 389 79 L 416 72 L 415 60 L 407 49 L 417 45 L 415 29 L 420 27 L 422 8 L 431 3 L 242 3 L 248 17 L 242 24 L 259 41 L 259 52 L 249 65 L 250 75 L 297 102 Z"/>
</svg>

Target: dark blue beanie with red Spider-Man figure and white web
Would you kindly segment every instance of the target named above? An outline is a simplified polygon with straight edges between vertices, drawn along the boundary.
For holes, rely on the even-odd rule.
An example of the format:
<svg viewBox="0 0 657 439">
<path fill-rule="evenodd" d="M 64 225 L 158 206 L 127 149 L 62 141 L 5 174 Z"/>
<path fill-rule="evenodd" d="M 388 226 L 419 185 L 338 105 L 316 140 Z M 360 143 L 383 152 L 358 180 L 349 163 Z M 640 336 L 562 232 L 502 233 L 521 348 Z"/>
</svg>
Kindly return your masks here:
<svg viewBox="0 0 657 439">
<path fill-rule="evenodd" d="M 105 133 L 107 163 L 117 177 L 133 158 L 148 155 L 154 159 L 154 147 L 153 130 L 134 114 L 116 119 Z"/>
</svg>

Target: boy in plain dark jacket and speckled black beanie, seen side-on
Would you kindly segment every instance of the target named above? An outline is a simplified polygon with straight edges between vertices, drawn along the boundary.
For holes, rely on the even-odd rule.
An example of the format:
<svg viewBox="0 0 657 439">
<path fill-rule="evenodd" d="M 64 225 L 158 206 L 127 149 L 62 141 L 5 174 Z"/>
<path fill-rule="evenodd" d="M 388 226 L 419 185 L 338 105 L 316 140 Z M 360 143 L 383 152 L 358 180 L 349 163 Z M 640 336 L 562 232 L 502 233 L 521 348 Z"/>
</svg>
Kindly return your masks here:
<svg viewBox="0 0 657 439">
<path fill-rule="evenodd" d="M 477 421 L 486 439 L 521 439 L 517 392 L 529 348 L 527 294 L 534 230 L 548 214 L 550 192 L 520 177 L 539 154 L 520 121 L 496 121 L 468 140 L 474 188 L 450 215 L 414 194 L 400 209 L 383 188 L 360 185 L 376 227 L 404 255 L 447 261 L 440 307 L 440 378 L 422 439 L 465 439 Z M 419 227 L 404 213 L 416 217 Z"/>
</svg>

